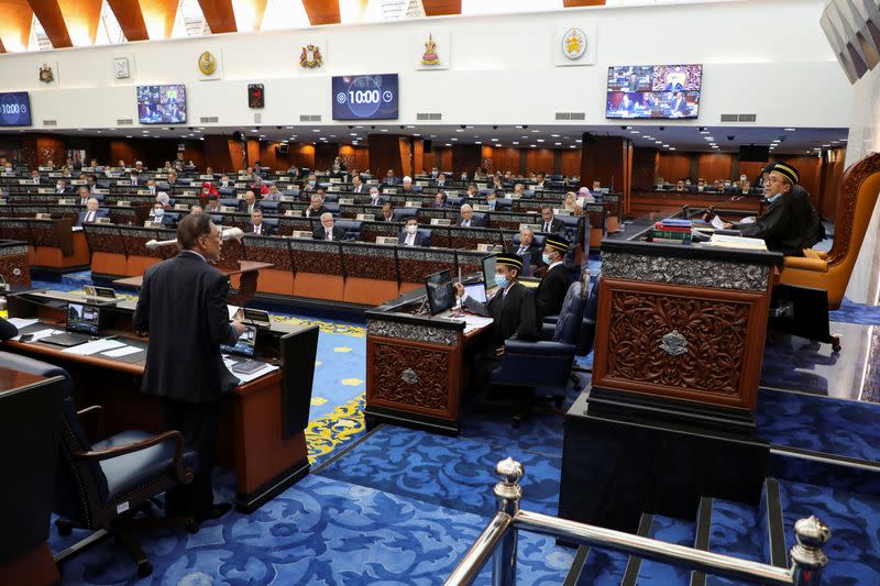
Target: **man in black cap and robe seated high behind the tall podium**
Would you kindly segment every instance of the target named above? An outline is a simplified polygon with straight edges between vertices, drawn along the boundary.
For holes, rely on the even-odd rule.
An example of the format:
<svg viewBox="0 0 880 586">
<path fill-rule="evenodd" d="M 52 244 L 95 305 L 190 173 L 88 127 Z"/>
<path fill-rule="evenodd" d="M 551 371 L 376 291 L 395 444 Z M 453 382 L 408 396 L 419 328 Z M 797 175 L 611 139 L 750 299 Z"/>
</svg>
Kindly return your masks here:
<svg viewBox="0 0 880 586">
<path fill-rule="evenodd" d="M 744 220 L 737 225 L 740 234 L 761 239 L 768 250 L 785 256 L 803 256 L 804 247 L 809 247 L 805 244 L 816 236 L 817 229 L 813 223 L 818 214 L 813 218 L 815 209 L 809 195 L 804 197 L 806 191 L 798 186 L 799 181 L 800 175 L 794 167 L 785 163 L 774 164 L 765 179 L 765 212 L 752 218 L 750 223 Z M 725 228 L 733 228 L 733 224 L 725 224 Z"/>
</svg>

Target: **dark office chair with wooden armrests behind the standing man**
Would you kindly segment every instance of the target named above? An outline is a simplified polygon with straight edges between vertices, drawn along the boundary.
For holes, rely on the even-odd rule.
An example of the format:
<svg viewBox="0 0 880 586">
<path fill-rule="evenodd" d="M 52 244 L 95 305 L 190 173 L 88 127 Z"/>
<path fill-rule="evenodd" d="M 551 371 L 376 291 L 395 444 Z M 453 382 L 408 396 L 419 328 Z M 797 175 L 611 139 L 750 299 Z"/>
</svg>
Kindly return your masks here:
<svg viewBox="0 0 880 586">
<path fill-rule="evenodd" d="M 70 375 L 53 364 L 26 356 L 0 352 L 0 367 L 40 376 L 63 376 L 67 380 L 62 401 L 62 441 L 55 476 L 53 512 L 62 535 L 74 528 L 97 531 L 55 556 L 61 566 L 88 549 L 113 535 L 138 564 L 138 575 L 153 573 L 150 560 L 133 531 L 165 527 L 186 527 L 198 531 L 191 517 L 139 517 L 152 512 L 154 498 L 178 484 L 193 482 L 196 453 L 184 447 L 179 431 L 154 435 L 128 430 L 91 443 L 80 419 L 97 419 L 97 434 L 103 428 L 103 409 L 95 405 L 76 410 L 70 396 Z"/>
</svg>

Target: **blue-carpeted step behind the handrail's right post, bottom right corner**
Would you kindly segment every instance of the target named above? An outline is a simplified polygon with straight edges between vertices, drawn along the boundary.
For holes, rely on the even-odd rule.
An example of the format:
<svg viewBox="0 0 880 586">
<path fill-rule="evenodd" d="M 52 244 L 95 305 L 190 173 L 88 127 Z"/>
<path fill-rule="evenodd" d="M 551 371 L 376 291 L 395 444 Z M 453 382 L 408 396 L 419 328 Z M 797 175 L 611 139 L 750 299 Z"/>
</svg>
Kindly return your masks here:
<svg viewBox="0 0 880 586">
<path fill-rule="evenodd" d="M 880 497 L 779 479 L 785 540 L 811 515 L 832 530 L 823 584 L 880 584 Z"/>
</svg>

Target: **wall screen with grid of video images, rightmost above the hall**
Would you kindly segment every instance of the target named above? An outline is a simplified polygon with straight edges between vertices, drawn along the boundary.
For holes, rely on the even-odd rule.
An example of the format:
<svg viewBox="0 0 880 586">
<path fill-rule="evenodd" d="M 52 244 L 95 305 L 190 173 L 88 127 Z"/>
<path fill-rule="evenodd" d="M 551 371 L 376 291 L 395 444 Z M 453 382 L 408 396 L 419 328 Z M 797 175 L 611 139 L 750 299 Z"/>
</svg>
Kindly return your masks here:
<svg viewBox="0 0 880 586">
<path fill-rule="evenodd" d="M 608 67 L 605 118 L 696 118 L 702 85 L 702 65 Z"/>
</svg>

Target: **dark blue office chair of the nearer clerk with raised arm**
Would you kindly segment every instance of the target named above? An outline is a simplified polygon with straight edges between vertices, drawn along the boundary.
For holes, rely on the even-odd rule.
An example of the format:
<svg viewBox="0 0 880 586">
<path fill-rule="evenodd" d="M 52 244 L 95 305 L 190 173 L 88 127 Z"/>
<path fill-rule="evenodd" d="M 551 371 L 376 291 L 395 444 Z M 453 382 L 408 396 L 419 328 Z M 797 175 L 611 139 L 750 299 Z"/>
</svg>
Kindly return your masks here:
<svg viewBox="0 0 880 586">
<path fill-rule="evenodd" d="M 578 342 L 583 324 L 586 299 L 580 280 L 572 283 L 562 302 L 562 310 L 553 325 L 544 324 L 538 342 L 507 340 L 504 343 L 504 358 L 501 366 L 492 373 L 494 385 L 509 387 L 530 387 L 532 389 L 518 407 L 513 425 L 519 427 L 522 417 L 531 410 L 535 402 L 535 387 L 564 388 L 569 384 Z M 550 400 L 561 407 L 562 395 L 552 395 Z"/>
</svg>

